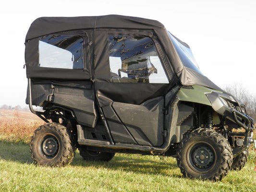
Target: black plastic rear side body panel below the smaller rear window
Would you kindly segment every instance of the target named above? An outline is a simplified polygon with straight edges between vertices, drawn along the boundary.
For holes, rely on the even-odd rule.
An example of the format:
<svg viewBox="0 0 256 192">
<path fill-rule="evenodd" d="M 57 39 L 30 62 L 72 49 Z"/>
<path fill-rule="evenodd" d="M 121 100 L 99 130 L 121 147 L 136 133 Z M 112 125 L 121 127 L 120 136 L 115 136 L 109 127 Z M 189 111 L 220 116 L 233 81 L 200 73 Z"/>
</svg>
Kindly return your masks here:
<svg viewBox="0 0 256 192">
<path fill-rule="evenodd" d="M 31 80 L 32 105 L 45 107 L 49 103 L 73 111 L 78 123 L 95 127 L 98 109 L 94 86 L 89 81 L 51 82 Z M 28 96 L 26 98 L 28 103 Z"/>
</svg>

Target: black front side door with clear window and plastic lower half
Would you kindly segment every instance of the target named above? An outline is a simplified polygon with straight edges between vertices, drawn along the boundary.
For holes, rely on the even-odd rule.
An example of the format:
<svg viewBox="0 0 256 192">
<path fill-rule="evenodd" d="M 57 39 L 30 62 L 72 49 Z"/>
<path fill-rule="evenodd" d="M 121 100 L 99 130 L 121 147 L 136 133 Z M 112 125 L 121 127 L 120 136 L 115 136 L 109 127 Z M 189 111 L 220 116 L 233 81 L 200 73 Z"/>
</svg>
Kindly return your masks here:
<svg viewBox="0 0 256 192">
<path fill-rule="evenodd" d="M 96 91 L 115 143 L 162 145 L 169 82 L 153 40 L 109 34 L 108 47 L 111 82 L 96 82 Z"/>
</svg>

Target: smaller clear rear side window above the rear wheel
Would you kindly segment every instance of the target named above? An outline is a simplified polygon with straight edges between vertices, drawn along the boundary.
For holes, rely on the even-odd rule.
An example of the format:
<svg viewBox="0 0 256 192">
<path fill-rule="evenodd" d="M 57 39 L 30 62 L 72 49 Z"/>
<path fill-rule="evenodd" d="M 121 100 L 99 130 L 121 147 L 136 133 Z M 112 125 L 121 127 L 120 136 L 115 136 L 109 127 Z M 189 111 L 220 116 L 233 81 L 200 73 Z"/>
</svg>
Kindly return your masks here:
<svg viewBox="0 0 256 192">
<path fill-rule="evenodd" d="M 70 35 L 39 37 L 39 67 L 84 69 L 83 41 Z"/>
</svg>

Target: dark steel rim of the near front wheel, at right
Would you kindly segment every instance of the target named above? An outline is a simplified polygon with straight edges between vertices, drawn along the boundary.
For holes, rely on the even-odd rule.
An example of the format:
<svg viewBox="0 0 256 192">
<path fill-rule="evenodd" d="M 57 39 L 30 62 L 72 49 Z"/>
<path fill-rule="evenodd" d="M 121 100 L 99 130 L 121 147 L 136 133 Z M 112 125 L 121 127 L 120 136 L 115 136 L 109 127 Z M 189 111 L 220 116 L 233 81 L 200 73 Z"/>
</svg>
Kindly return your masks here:
<svg viewBox="0 0 256 192">
<path fill-rule="evenodd" d="M 216 152 L 210 144 L 199 142 L 189 148 L 187 161 L 193 170 L 205 173 L 214 167 Z"/>
</svg>

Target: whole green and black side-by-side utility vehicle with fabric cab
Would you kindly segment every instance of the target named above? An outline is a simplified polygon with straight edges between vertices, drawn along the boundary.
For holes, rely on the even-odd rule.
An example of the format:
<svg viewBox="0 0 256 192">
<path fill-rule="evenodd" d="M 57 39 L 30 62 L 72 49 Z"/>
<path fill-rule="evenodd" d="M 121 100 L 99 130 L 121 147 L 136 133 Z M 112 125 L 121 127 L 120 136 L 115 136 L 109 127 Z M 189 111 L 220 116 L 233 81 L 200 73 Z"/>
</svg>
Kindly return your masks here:
<svg viewBox="0 0 256 192">
<path fill-rule="evenodd" d="M 39 165 L 65 166 L 78 148 L 93 161 L 173 156 L 185 177 L 221 180 L 247 161 L 253 120 L 158 21 L 41 17 L 27 32 L 25 63 L 26 103 L 46 122 L 30 143 Z"/>
</svg>

